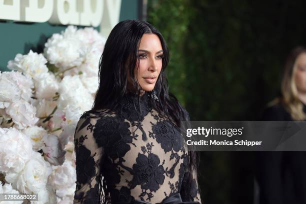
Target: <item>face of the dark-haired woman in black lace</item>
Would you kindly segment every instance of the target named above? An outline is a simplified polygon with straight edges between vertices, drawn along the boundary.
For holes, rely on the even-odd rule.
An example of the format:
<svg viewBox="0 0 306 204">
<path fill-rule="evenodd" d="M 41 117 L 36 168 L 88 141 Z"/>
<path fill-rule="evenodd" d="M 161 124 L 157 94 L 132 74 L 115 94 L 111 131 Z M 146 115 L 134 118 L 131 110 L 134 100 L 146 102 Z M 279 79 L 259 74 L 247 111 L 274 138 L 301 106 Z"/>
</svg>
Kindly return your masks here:
<svg viewBox="0 0 306 204">
<path fill-rule="evenodd" d="M 143 34 L 138 49 L 138 61 L 134 69 L 137 81 L 144 91 L 153 90 L 162 66 L 162 47 L 156 34 Z M 137 69 L 137 66 L 139 68 Z M 131 79 L 128 76 L 129 87 Z"/>
</svg>

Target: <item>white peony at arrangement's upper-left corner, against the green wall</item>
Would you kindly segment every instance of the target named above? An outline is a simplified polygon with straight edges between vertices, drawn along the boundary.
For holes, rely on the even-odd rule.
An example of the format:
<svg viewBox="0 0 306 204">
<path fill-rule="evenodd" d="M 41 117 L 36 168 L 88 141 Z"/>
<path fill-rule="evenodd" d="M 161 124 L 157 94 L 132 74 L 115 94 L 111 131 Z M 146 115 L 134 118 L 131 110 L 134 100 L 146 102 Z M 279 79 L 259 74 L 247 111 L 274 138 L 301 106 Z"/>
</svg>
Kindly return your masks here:
<svg viewBox="0 0 306 204">
<path fill-rule="evenodd" d="M 47 60 L 42 54 L 37 54 L 30 50 L 25 55 L 17 54 L 14 60 L 9 60 L 7 68 L 23 72 L 36 79 L 40 74 L 48 71 L 48 68 L 45 65 L 46 62 Z"/>
</svg>

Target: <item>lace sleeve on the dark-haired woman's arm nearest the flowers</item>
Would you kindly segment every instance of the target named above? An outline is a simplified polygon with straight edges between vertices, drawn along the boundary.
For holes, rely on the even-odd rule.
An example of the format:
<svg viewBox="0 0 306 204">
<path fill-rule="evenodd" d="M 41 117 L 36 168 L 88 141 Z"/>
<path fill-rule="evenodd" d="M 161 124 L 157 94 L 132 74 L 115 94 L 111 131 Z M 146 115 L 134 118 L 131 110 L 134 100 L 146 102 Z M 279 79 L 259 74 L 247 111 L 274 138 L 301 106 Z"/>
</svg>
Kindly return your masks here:
<svg viewBox="0 0 306 204">
<path fill-rule="evenodd" d="M 74 134 L 76 189 L 73 203 L 98 203 L 99 166 L 103 148 L 93 137 L 96 118 L 80 117 Z"/>
</svg>

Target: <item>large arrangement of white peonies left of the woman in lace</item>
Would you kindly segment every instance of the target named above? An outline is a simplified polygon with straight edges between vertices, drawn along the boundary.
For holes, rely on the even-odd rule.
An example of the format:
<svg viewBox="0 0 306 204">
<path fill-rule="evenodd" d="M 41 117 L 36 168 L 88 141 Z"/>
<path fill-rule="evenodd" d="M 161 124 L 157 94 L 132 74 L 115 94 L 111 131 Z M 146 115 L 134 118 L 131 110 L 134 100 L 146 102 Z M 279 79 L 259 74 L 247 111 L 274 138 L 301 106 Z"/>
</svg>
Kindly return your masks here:
<svg viewBox="0 0 306 204">
<path fill-rule="evenodd" d="M 69 25 L 47 40 L 43 54 L 30 50 L 8 61 L 12 71 L 0 73 L 0 193 L 73 202 L 73 135 L 93 104 L 104 43 L 93 28 Z"/>
</svg>

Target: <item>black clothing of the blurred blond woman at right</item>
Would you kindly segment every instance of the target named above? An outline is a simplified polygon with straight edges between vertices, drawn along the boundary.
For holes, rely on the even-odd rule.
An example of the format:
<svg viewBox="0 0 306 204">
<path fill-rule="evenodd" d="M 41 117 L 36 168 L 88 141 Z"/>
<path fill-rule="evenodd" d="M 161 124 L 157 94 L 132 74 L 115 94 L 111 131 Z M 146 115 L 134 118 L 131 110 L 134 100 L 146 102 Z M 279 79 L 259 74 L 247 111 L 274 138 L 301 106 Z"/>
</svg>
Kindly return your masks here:
<svg viewBox="0 0 306 204">
<path fill-rule="evenodd" d="M 292 117 L 278 103 L 268 107 L 261 120 L 290 121 Z M 256 152 L 255 165 L 260 204 L 306 204 L 305 151 Z"/>
</svg>

